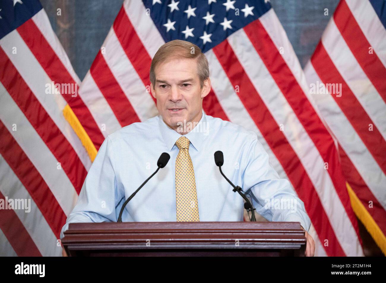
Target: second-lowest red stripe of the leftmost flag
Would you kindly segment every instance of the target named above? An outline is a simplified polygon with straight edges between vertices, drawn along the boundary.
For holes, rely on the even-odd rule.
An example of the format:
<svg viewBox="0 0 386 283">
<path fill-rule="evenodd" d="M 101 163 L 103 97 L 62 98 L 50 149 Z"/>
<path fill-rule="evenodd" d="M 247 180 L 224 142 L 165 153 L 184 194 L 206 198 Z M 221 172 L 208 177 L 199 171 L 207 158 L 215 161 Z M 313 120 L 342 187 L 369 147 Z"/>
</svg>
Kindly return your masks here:
<svg viewBox="0 0 386 283">
<path fill-rule="evenodd" d="M 12 168 L 17 178 L 28 191 L 36 206 L 41 211 L 48 225 L 59 239 L 60 231 L 67 216 L 59 205 L 46 182 L 29 160 L 23 149 L 0 121 L 0 154 Z"/>
</svg>

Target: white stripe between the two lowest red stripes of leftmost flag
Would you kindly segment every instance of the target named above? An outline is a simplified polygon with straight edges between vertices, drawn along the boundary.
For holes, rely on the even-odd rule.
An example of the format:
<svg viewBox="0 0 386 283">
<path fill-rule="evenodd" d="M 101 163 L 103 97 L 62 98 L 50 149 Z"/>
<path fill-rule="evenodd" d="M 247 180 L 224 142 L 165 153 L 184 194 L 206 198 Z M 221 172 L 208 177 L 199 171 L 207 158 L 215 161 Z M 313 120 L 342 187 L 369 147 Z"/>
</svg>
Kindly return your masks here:
<svg viewBox="0 0 386 283">
<path fill-rule="evenodd" d="M 56 246 L 56 236 L 28 191 L 0 155 L 0 191 L 8 199 L 30 199 L 30 212 L 14 209 L 42 256 L 59 256 L 61 248 Z"/>
</svg>

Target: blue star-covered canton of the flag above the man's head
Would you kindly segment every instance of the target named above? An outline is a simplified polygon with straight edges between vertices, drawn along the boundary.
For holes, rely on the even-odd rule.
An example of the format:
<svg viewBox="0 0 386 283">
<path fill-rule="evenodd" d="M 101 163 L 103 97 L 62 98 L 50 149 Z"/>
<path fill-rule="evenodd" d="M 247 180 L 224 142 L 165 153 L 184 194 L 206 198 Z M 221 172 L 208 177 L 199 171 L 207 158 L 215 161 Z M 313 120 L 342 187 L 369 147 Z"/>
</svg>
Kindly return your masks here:
<svg viewBox="0 0 386 283">
<path fill-rule="evenodd" d="M 168 42 L 187 40 L 206 52 L 266 13 L 268 0 L 143 0 Z M 168 4 L 169 3 L 169 4 Z"/>
</svg>

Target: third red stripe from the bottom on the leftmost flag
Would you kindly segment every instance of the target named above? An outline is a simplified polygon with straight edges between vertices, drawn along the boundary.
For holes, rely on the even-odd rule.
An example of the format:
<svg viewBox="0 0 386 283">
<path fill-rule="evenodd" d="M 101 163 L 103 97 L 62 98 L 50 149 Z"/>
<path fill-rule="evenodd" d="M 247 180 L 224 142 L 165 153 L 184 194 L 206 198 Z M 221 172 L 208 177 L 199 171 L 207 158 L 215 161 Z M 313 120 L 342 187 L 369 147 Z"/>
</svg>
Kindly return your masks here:
<svg viewBox="0 0 386 283">
<path fill-rule="evenodd" d="M 36 99 L 1 47 L 0 65 L 5 66 L 5 69 L 7 69 L 7 72 L 0 74 L 0 81 L 52 154 L 61 163 L 61 167 L 76 191 L 80 193 L 87 171 L 78 155 L 39 100 Z M 51 164 L 51 166 L 57 165 Z"/>
</svg>

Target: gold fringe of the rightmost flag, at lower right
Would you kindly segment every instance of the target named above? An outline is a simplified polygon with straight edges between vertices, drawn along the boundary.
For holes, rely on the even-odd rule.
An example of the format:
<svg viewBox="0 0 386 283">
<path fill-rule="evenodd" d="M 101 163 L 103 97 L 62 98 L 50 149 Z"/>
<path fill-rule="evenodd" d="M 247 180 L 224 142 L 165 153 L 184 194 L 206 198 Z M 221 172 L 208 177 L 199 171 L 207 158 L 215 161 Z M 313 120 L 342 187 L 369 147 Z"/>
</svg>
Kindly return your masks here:
<svg viewBox="0 0 386 283">
<path fill-rule="evenodd" d="M 346 182 L 347 191 L 349 192 L 350 201 L 354 213 L 358 216 L 359 220 L 366 227 L 367 231 L 377 243 L 381 251 L 386 255 L 386 236 L 383 234 L 381 228 L 371 217 L 370 213 L 364 207 L 357 195 L 354 193 L 349 183 Z"/>
</svg>

